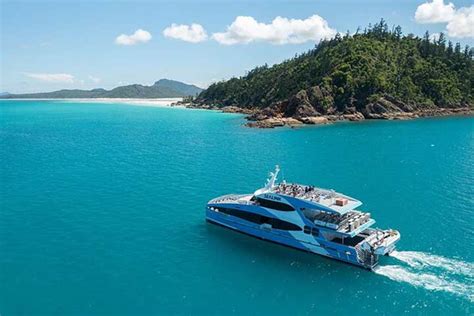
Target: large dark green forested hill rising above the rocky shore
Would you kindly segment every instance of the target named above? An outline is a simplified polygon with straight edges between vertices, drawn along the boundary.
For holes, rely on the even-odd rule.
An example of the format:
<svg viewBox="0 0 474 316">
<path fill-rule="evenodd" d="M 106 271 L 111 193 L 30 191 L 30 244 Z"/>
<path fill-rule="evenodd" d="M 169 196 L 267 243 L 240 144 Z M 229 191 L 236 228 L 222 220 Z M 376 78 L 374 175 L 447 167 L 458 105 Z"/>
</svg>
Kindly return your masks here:
<svg viewBox="0 0 474 316">
<path fill-rule="evenodd" d="M 272 67 L 214 83 L 196 105 L 273 109 L 283 116 L 473 106 L 473 49 L 389 30 L 384 20 L 337 35 Z M 379 105 L 380 105 L 379 104 Z M 380 110 L 380 109 L 379 109 Z M 384 111 L 387 109 L 382 109 Z"/>
</svg>

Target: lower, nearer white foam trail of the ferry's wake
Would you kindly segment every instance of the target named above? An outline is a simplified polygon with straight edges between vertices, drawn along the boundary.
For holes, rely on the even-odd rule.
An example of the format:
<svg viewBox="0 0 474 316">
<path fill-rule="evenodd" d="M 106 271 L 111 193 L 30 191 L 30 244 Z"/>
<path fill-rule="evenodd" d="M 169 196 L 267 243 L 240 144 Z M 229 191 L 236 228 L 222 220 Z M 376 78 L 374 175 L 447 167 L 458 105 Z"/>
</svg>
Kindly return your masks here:
<svg viewBox="0 0 474 316">
<path fill-rule="evenodd" d="M 474 302 L 474 284 L 472 282 L 460 283 L 449 280 L 439 275 L 412 272 L 402 266 L 378 266 L 374 272 L 384 275 L 397 282 L 406 282 L 416 287 L 423 287 L 431 291 L 444 291 L 465 297 Z"/>
</svg>

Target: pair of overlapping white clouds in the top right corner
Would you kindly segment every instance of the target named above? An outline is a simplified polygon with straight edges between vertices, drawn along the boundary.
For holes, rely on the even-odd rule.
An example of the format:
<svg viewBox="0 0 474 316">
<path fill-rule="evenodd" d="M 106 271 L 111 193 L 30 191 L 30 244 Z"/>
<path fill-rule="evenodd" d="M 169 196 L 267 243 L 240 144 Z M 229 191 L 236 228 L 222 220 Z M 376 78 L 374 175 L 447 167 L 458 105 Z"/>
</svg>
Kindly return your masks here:
<svg viewBox="0 0 474 316">
<path fill-rule="evenodd" d="M 447 23 L 446 32 L 451 37 L 474 38 L 474 5 L 456 9 L 451 2 L 433 0 L 418 6 L 415 12 L 418 23 Z"/>
</svg>

